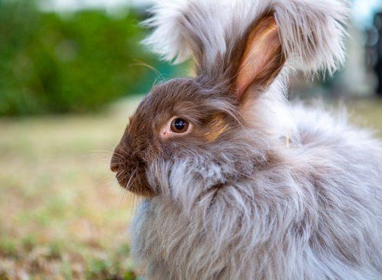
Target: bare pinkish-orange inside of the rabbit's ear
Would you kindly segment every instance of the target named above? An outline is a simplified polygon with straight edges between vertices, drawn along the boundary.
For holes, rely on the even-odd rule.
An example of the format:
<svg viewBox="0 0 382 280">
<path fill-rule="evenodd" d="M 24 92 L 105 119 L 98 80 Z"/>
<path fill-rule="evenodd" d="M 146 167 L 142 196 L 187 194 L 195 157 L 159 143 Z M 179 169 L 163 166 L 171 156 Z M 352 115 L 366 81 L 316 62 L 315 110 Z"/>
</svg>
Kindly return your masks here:
<svg viewBox="0 0 382 280">
<path fill-rule="evenodd" d="M 236 78 L 236 94 L 239 99 L 250 85 L 259 83 L 265 87 L 274 79 L 283 64 L 281 52 L 276 21 L 273 15 L 267 15 L 248 36 Z"/>
</svg>

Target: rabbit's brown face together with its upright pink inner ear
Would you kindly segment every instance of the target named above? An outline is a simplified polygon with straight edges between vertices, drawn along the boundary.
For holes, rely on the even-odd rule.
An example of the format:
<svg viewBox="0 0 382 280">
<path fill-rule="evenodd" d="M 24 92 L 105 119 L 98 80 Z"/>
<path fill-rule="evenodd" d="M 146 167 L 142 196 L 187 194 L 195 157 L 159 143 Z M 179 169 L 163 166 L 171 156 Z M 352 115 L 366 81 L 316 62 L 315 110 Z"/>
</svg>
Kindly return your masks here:
<svg viewBox="0 0 382 280">
<path fill-rule="evenodd" d="M 198 49 L 203 50 L 203 45 Z M 285 62 L 271 13 L 253 22 L 215 65 L 205 65 L 203 53 L 195 55 L 197 78 L 157 85 L 130 118 L 111 160 L 111 170 L 127 190 L 146 197 L 158 195 L 160 186 L 148 179 L 153 162 L 197 155 L 222 141 L 234 143 L 242 128 L 239 122 L 250 123 L 250 117 L 246 119 L 250 102 Z"/>
</svg>

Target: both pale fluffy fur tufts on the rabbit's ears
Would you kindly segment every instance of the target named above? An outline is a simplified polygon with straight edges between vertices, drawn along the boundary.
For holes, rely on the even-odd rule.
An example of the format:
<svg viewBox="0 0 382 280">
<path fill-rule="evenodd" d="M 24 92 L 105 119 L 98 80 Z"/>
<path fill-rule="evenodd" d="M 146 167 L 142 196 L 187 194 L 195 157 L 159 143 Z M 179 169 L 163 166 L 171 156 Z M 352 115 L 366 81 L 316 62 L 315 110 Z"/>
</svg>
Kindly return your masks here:
<svg viewBox="0 0 382 280">
<path fill-rule="evenodd" d="M 143 43 L 174 63 L 193 55 L 197 64 L 213 64 L 267 12 L 274 13 L 289 66 L 332 74 L 344 62 L 345 0 L 157 1 L 144 22 L 154 31 Z"/>
</svg>

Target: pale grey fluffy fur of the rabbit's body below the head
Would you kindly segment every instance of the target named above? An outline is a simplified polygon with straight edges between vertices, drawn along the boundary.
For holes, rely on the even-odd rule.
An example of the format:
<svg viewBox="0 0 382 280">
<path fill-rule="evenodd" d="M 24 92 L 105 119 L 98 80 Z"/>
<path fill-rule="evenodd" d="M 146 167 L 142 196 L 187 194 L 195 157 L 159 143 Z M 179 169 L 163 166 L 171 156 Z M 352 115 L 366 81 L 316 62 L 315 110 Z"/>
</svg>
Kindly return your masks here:
<svg viewBox="0 0 382 280">
<path fill-rule="evenodd" d="M 163 194 L 132 225 L 148 279 L 381 279 L 379 143 L 322 111 L 291 111 L 290 148 L 248 132 L 248 146 L 153 165 Z M 232 179 L 238 169 L 250 179 Z M 208 193 L 217 182 L 227 186 Z"/>
</svg>

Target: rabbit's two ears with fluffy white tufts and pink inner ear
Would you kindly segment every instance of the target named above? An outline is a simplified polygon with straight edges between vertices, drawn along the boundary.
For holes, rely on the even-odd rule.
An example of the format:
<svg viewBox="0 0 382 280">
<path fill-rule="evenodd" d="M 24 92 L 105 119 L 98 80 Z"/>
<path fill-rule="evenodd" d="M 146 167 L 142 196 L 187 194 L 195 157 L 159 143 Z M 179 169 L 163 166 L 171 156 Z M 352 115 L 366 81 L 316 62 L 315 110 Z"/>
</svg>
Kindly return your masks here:
<svg viewBox="0 0 382 280">
<path fill-rule="evenodd" d="M 198 75 L 216 82 L 239 75 L 241 92 L 266 73 L 267 85 L 283 59 L 305 73 L 344 62 L 347 0 L 157 0 L 152 11 L 146 45 L 171 62 L 194 57 Z"/>
</svg>

